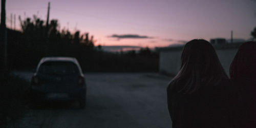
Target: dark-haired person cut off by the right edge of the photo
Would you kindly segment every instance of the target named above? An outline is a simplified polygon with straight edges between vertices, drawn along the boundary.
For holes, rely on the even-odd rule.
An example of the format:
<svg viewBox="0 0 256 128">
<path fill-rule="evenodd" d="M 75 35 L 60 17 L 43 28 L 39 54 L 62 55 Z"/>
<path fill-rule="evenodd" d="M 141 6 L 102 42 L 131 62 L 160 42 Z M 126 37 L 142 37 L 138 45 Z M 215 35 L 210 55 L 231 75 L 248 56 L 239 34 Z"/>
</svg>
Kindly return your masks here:
<svg viewBox="0 0 256 128">
<path fill-rule="evenodd" d="M 249 41 L 240 46 L 229 74 L 238 88 L 239 127 L 256 127 L 256 42 Z"/>
</svg>

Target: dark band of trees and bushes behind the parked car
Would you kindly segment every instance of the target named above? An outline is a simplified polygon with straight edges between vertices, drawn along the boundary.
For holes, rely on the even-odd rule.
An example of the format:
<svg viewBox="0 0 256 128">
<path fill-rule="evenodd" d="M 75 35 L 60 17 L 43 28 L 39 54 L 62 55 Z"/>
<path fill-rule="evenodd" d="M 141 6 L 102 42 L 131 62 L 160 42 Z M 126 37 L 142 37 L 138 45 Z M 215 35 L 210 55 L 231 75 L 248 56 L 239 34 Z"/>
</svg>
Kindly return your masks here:
<svg viewBox="0 0 256 128">
<path fill-rule="evenodd" d="M 45 56 L 71 56 L 78 59 L 84 72 L 157 72 L 158 53 L 148 48 L 139 52 L 110 53 L 94 46 L 89 33 L 60 30 L 58 21 L 47 28 L 43 20 L 20 19 L 22 32 L 8 30 L 8 59 L 11 69 L 35 69 Z M 49 37 L 49 38 L 47 38 Z"/>
</svg>

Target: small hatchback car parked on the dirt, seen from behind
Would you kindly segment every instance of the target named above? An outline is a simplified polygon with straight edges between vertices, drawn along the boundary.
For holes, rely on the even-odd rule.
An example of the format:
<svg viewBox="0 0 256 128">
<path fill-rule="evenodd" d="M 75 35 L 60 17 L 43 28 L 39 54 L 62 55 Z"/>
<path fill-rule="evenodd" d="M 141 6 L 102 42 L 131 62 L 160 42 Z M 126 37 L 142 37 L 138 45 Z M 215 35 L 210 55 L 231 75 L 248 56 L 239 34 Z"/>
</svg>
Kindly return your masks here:
<svg viewBox="0 0 256 128">
<path fill-rule="evenodd" d="M 78 101 L 86 106 L 86 82 L 80 65 L 73 57 L 44 57 L 31 80 L 35 102 L 41 100 Z"/>
</svg>

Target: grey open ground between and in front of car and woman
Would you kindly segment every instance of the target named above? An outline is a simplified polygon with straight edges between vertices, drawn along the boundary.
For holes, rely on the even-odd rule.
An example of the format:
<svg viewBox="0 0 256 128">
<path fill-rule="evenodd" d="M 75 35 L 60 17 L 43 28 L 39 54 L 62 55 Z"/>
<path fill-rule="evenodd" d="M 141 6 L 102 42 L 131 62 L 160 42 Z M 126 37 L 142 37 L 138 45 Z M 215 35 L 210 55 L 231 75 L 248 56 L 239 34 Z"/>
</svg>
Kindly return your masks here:
<svg viewBox="0 0 256 128">
<path fill-rule="evenodd" d="M 30 80 L 32 73 L 15 72 Z M 156 73 L 85 74 L 87 108 L 47 102 L 29 110 L 21 127 L 171 127 L 166 102 L 170 78 Z"/>
</svg>

